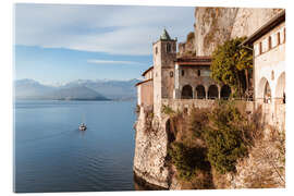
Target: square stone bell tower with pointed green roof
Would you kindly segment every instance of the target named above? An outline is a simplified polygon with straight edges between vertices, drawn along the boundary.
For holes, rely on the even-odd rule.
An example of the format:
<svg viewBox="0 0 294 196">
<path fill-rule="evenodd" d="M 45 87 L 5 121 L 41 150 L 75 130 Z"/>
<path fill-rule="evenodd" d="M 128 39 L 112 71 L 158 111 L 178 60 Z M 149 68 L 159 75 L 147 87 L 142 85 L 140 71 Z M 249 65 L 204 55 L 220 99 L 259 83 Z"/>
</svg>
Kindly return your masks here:
<svg viewBox="0 0 294 196">
<path fill-rule="evenodd" d="M 171 99 L 174 89 L 174 61 L 176 60 L 176 38 L 171 39 L 163 29 L 159 40 L 152 45 L 154 54 L 154 107 L 160 113 L 161 100 Z"/>
</svg>

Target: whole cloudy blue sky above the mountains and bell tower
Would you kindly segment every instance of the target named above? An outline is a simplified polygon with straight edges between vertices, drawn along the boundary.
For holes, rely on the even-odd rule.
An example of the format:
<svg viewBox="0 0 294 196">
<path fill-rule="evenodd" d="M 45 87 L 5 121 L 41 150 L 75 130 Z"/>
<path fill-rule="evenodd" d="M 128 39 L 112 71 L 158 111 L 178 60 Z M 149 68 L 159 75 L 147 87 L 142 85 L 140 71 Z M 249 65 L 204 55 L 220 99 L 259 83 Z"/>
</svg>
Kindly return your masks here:
<svg viewBox="0 0 294 196">
<path fill-rule="evenodd" d="M 42 84 L 132 79 L 152 65 L 152 42 L 166 27 L 185 41 L 193 7 L 16 3 L 15 79 Z"/>
</svg>

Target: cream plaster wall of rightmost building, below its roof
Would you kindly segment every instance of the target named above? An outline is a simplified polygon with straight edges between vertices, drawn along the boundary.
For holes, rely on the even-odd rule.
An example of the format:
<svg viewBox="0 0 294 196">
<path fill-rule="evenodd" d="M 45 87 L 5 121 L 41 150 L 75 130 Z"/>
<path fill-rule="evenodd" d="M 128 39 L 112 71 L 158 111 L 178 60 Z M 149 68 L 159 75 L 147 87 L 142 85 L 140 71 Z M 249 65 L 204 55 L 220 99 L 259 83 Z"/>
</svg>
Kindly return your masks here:
<svg viewBox="0 0 294 196">
<path fill-rule="evenodd" d="M 280 33 L 280 45 L 275 45 L 277 33 Z M 269 49 L 268 41 L 271 36 L 272 49 Z M 260 42 L 262 53 L 259 52 Z M 282 102 L 283 91 L 285 88 L 285 41 L 284 24 L 277 26 L 274 29 L 262 36 L 254 42 L 254 77 L 255 77 L 255 99 L 264 101 L 266 81 L 268 81 L 272 102 Z"/>
</svg>

